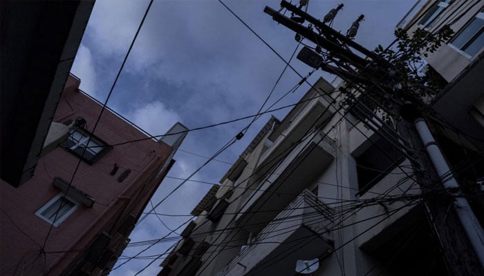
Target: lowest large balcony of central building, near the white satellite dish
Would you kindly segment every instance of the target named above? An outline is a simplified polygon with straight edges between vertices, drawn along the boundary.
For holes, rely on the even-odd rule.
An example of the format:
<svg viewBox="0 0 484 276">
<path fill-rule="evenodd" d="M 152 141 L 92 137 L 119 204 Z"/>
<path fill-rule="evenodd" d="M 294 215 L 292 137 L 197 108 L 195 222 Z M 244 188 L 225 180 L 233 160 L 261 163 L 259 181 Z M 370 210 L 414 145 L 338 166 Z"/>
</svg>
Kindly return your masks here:
<svg viewBox="0 0 484 276">
<path fill-rule="evenodd" d="M 294 275 L 298 259 L 334 250 L 333 211 L 304 190 L 216 275 Z"/>
</svg>

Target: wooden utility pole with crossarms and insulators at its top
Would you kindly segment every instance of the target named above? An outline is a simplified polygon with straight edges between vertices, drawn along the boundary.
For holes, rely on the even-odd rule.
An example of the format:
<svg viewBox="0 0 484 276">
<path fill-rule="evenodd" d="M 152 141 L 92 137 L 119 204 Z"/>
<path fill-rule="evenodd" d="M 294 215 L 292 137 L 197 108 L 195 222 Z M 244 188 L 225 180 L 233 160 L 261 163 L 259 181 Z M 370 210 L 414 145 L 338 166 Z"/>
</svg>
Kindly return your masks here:
<svg viewBox="0 0 484 276">
<path fill-rule="evenodd" d="M 371 86 L 378 79 L 379 86 L 385 91 L 393 90 L 395 81 L 391 76 L 391 66 L 389 62 L 379 57 L 375 52 L 368 50 L 351 40 L 355 37 L 357 28 L 362 21 L 363 16 L 360 16 L 348 30 L 346 35 L 333 30 L 333 28 L 326 25 L 326 23 L 333 20 L 338 10 L 342 6 L 338 6 L 337 9 L 331 10 L 324 22 L 319 21 L 310 14 L 307 14 L 301 9 L 304 6 L 303 3 L 299 7 L 288 3 L 287 1 L 281 1 L 281 9 L 286 8 L 288 12 L 292 13 L 292 16 L 286 17 L 277 10 L 266 7 L 264 12 L 269 14 L 274 21 L 281 23 L 283 26 L 290 28 L 296 32 L 296 39 L 300 41 L 302 37 L 312 41 L 316 45 L 316 52 L 313 52 L 309 48 L 304 48 L 299 56 L 306 57 L 308 65 L 314 68 L 321 68 L 326 72 L 341 77 L 346 83 L 356 83 L 360 89 L 361 87 Z M 294 20 L 296 19 L 296 20 Z M 308 26 L 304 26 L 303 23 L 307 21 Z M 326 52 L 323 52 L 323 49 Z M 360 55 L 357 55 L 358 52 Z M 322 54 L 325 54 L 323 57 Z M 364 55 L 367 59 L 361 57 Z M 333 63 L 333 66 L 329 63 Z M 360 73 L 355 73 L 360 72 Z M 394 95 L 393 93 L 392 95 Z M 390 95 L 390 94 L 389 94 Z M 400 97 L 397 99 L 400 103 L 404 103 L 406 99 Z M 395 108 L 397 108 L 395 106 Z M 400 106 L 398 107 L 400 108 Z M 412 148 L 413 152 L 408 152 L 413 158 L 410 159 L 413 172 L 416 175 L 420 190 L 423 194 L 430 194 L 435 191 L 444 190 L 445 187 L 440 181 L 439 176 L 442 172 L 436 171 L 434 166 L 434 158 L 431 159 L 427 152 L 429 146 L 432 143 L 425 141 L 425 145 L 422 144 L 420 139 L 420 129 L 417 132 L 416 127 L 413 126 L 413 120 L 416 119 L 415 112 L 409 112 L 412 108 L 404 108 L 400 110 L 402 117 L 409 121 L 400 121 L 398 124 L 398 134 L 401 139 L 407 143 L 407 146 Z M 411 114 L 412 113 L 412 114 Z M 411 122 L 410 122 L 411 121 Z M 416 121 L 416 124 L 420 124 Z M 425 121 L 424 123 L 425 124 Z M 417 126 L 421 127 L 421 126 Z M 434 148 L 435 149 L 435 148 Z M 434 161 L 434 163 L 433 163 Z M 439 170 L 439 168 L 438 168 Z M 455 181 L 455 179 L 454 179 Z M 446 183 L 448 181 L 445 181 Z M 445 186 L 449 188 L 447 183 Z M 455 187 L 454 187 L 455 188 Z M 458 190 L 458 188 L 454 189 Z M 431 197 L 424 203 L 425 212 L 431 223 L 431 226 L 438 237 L 440 243 L 440 250 L 445 257 L 445 262 L 448 266 L 449 272 L 455 276 L 468 276 L 468 275 L 484 275 L 483 264 L 481 264 L 483 253 L 479 249 L 481 244 L 475 244 L 474 237 L 482 237 L 479 234 L 470 233 L 474 237 L 470 237 L 472 242 L 469 241 L 469 226 L 466 224 L 465 219 L 462 217 L 461 210 L 456 201 L 465 200 L 460 197 L 456 199 L 455 194 L 448 197 Z M 457 207 L 456 207 L 457 206 Z M 468 205 L 467 205 L 468 206 Z M 472 214 L 473 215 L 473 214 Z M 463 226 L 464 225 L 464 226 Z M 478 227 L 481 227 L 480 225 Z M 467 231 L 467 232 L 466 232 Z M 482 231 L 482 228 L 481 228 Z M 479 230 L 475 230 L 479 233 Z M 469 235 L 469 236 L 471 236 Z"/>
</svg>

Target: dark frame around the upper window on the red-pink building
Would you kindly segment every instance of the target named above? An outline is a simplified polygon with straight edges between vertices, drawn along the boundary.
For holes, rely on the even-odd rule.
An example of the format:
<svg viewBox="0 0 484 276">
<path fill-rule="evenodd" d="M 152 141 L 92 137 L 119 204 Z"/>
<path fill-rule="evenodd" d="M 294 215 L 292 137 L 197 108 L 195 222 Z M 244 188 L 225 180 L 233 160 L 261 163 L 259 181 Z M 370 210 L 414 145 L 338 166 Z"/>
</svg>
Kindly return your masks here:
<svg viewBox="0 0 484 276">
<path fill-rule="evenodd" d="M 80 141 L 75 141 L 73 138 L 73 135 L 76 132 L 81 134 Z M 90 141 L 89 138 L 91 138 Z M 95 152 L 95 150 L 90 150 L 89 148 L 86 148 L 84 154 L 80 153 L 78 149 L 84 151 L 84 146 L 87 141 L 89 141 L 89 144 L 96 144 L 97 146 L 102 146 L 102 149 Z M 106 152 L 113 148 L 113 146 L 107 144 L 106 141 L 103 141 L 99 137 L 93 135 L 93 133 L 89 132 L 85 128 L 80 127 L 73 128 L 68 137 L 62 142 L 62 146 L 66 150 L 68 150 L 68 152 L 71 152 L 73 155 L 79 157 L 80 159 L 82 159 L 82 161 L 86 162 L 89 165 L 94 164 L 95 161 L 99 160 L 103 155 L 106 154 Z M 86 156 L 87 154 L 92 155 L 92 157 Z"/>
</svg>

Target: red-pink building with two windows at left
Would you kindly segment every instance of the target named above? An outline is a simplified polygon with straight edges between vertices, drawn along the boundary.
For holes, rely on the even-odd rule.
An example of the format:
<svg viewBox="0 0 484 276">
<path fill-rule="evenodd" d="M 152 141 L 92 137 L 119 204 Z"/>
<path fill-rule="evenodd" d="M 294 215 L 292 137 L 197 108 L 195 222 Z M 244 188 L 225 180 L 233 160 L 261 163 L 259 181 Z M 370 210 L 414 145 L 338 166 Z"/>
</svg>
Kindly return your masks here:
<svg viewBox="0 0 484 276">
<path fill-rule="evenodd" d="M 79 84 L 68 77 L 53 117 L 71 126 L 68 137 L 39 158 L 22 186 L 1 180 L 0 275 L 109 271 L 185 138 L 177 123 L 167 134 L 183 133 L 149 139 L 110 110 L 91 133 L 102 106 Z M 138 139 L 145 140 L 110 146 Z"/>
</svg>

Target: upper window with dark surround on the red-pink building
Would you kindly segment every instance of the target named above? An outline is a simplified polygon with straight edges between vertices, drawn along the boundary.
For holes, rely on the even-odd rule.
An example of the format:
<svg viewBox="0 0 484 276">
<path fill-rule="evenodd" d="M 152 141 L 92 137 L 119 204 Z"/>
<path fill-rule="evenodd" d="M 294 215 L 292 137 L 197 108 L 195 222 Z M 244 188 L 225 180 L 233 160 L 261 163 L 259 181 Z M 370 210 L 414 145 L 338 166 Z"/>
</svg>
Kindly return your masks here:
<svg viewBox="0 0 484 276">
<path fill-rule="evenodd" d="M 89 137 L 91 137 L 91 140 L 89 140 Z M 88 141 L 89 145 L 87 144 Z M 83 128 L 75 128 L 62 145 L 88 164 L 93 164 L 112 148 Z"/>
</svg>

